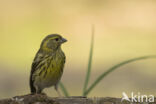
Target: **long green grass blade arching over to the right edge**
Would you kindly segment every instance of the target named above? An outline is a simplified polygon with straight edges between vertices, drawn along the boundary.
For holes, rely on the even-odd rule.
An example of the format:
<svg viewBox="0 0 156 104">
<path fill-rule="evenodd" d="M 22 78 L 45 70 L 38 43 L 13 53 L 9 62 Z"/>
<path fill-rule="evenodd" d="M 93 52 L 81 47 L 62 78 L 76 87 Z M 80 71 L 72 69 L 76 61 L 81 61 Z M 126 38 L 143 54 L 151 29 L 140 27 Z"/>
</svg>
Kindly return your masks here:
<svg viewBox="0 0 156 104">
<path fill-rule="evenodd" d="M 108 74 L 110 74 L 112 71 L 116 70 L 117 68 L 125 65 L 125 64 L 129 64 L 131 62 L 134 61 L 138 61 L 138 60 L 144 60 L 144 59 L 149 59 L 149 58 L 156 58 L 156 55 L 153 56 L 143 56 L 143 57 L 138 57 L 138 58 L 134 58 L 134 59 L 130 59 L 127 61 L 123 61 L 117 65 L 114 65 L 113 67 L 111 67 L 110 69 L 108 69 L 106 72 L 104 72 L 103 74 L 101 74 L 94 82 L 93 84 L 86 90 L 86 92 L 84 93 L 84 96 L 87 96 L 90 91 L 104 78 L 106 77 Z"/>
</svg>

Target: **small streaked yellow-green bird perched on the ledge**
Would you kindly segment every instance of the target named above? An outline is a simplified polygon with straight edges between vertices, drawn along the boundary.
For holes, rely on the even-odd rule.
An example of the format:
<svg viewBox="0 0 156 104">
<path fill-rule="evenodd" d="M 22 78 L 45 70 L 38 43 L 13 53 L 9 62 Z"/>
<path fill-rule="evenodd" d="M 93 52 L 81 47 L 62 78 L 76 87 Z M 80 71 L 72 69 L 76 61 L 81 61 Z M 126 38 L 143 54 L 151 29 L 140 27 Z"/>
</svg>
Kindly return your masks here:
<svg viewBox="0 0 156 104">
<path fill-rule="evenodd" d="M 58 84 L 63 74 L 66 56 L 61 45 L 67 42 L 59 34 L 50 34 L 41 42 L 40 48 L 31 65 L 30 92 L 42 94 L 44 88 L 54 86 L 58 95 Z"/>
</svg>

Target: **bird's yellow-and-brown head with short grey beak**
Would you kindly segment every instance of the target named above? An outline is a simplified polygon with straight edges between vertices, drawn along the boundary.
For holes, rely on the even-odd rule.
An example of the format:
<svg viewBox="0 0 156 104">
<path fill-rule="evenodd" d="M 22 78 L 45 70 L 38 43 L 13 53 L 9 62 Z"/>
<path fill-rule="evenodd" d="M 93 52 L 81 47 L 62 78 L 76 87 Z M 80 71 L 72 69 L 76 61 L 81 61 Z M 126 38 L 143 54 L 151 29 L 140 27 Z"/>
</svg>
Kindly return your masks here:
<svg viewBox="0 0 156 104">
<path fill-rule="evenodd" d="M 61 46 L 61 44 L 63 44 L 66 41 L 67 40 L 59 34 L 50 34 L 43 39 L 41 49 L 47 51 L 54 51 L 57 50 Z"/>
</svg>

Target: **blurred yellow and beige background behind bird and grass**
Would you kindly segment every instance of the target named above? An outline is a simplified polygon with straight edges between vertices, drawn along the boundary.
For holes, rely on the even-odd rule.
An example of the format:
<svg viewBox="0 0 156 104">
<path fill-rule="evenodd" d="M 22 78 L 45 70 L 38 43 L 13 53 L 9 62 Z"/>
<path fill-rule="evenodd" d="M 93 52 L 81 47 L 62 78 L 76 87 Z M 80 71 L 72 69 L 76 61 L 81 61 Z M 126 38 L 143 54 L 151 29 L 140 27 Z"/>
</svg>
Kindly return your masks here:
<svg viewBox="0 0 156 104">
<path fill-rule="evenodd" d="M 82 94 L 95 25 L 91 83 L 121 61 L 156 54 L 155 0 L 0 0 L 0 98 L 29 93 L 32 60 L 42 39 L 59 33 L 67 61 L 62 77 L 72 96 Z M 107 76 L 90 97 L 156 95 L 156 60 L 123 66 Z M 57 96 L 53 88 L 49 96 Z"/>
</svg>

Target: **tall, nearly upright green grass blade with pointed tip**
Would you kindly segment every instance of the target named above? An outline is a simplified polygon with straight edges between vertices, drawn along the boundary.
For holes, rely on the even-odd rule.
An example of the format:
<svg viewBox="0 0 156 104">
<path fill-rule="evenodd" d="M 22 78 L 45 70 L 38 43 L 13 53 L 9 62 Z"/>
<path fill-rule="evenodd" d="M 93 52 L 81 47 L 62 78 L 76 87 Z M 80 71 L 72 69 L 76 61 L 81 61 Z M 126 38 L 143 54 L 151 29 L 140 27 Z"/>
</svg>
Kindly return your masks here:
<svg viewBox="0 0 156 104">
<path fill-rule="evenodd" d="M 92 39 L 91 39 L 91 46 L 90 46 L 88 68 L 87 68 L 86 78 L 85 78 L 84 87 L 83 87 L 83 96 L 85 94 L 85 91 L 86 91 L 88 83 L 89 83 L 91 66 L 92 66 L 92 57 L 93 57 L 93 46 L 94 46 L 94 25 L 92 25 Z"/>
</svg>

